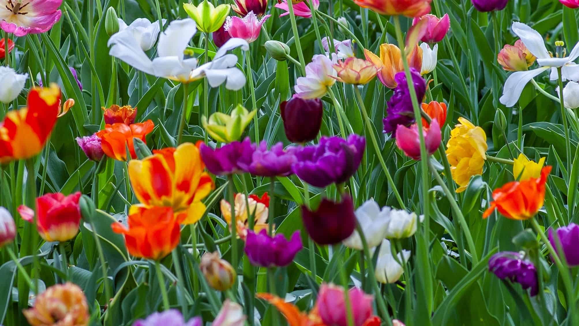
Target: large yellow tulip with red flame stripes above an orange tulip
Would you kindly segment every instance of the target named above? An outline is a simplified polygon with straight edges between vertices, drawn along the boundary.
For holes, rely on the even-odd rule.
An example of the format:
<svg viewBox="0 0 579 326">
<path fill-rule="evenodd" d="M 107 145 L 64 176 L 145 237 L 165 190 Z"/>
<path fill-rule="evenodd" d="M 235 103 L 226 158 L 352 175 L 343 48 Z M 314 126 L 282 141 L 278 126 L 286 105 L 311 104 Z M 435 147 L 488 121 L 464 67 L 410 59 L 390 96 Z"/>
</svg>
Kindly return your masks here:
<svg viewBox="0 0 579 326">
<path fill-rule="evenodd" d="M 129 179 L 135 196 L 146 206 L 168 206 L 184 214 L 183 224 L 203 216 L 207 197 L 215 184 L 204 171 L 199 148 L 186 142 L 177 148 L 153 151 L 153 155 L 129 162 Z"/>
</svg>

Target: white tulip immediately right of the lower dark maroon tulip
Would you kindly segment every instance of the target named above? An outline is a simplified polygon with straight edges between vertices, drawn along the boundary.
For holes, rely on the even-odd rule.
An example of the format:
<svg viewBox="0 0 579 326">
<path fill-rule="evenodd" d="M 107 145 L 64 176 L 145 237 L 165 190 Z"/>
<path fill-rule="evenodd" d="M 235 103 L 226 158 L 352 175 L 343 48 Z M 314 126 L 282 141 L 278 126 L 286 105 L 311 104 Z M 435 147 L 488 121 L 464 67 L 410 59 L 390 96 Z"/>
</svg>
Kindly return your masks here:
<svg viewBox="0 0 579 326">
<path fill-rule="evenodd" d="M 380 210 L 380 206 L 373 199 L 368 200 L 356 210 L 358 224 L 362 227 L 369 248 L 378 246 L 386 237 L 389 214 L 390 207 L 386 206 Z M 354 233 L 344 240 L 343 244 L 346 247 L 357 250 L 364 249 L 362 239 L 360 239 L 360 234 L 357 230 L 354 230 Z"/>
</svg>

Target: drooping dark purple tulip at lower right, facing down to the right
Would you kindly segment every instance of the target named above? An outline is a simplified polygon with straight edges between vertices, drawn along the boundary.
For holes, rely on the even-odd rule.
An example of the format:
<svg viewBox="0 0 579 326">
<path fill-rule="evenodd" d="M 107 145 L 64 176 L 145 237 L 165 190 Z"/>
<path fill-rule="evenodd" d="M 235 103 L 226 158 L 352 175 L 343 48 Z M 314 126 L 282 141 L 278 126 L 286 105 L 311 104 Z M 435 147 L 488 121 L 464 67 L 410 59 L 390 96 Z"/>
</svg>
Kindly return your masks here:
<svg viewBox="0 0 579 326">
<path fill-rule="evenodd" d="M 503 251 L 489 259 L 489 270 L 499 279 L 508 279 L 521 284 L 523 289 L 530 288 L 531 296 L 538 293 L 537 269 L 532 262 L 521 259 L 518 252 Z"/>
</svg>

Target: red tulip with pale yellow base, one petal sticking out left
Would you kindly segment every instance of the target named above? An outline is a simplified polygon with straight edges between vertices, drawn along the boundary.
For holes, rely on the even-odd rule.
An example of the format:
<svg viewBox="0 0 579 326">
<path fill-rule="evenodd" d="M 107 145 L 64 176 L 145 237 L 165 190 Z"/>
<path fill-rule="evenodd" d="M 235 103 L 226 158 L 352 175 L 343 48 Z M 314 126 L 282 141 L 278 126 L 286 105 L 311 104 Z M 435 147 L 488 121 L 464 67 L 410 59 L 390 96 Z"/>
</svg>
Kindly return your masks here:
<svg viewBox="0 0 579 326">
<path fill-rule="evenodd" d="M 80 225 L 80 192 L 64 196 L 47 193 L 36 198 L 36 228 L 46 241 L 68 241 L 76 236 Z M 18 213 L 24 221 L 34 223 L 34 210 L 20 205 Z"/>
</svg>

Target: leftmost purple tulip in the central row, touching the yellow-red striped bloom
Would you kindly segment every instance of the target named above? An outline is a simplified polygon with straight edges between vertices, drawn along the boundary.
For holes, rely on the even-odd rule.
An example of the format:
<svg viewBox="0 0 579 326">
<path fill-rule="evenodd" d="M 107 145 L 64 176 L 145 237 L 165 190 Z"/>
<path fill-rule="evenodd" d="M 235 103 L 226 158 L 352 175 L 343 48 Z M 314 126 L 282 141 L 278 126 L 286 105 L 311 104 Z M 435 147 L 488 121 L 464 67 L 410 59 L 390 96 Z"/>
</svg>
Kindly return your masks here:
<svg viewBox="0 0 579 326">
<path fill-rule="evenodd" d="M 239 142 L 234 141 L 212 149 L 201 144 L 201 159 L 205 162 L 207 170 L 215 175 L 229 175 L 248 172 L 251 157 L 255 152 L 255 144 L 251 144 L 250 138 Z"/>
</svg>

